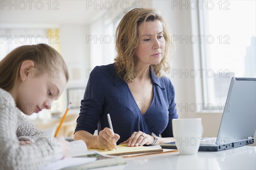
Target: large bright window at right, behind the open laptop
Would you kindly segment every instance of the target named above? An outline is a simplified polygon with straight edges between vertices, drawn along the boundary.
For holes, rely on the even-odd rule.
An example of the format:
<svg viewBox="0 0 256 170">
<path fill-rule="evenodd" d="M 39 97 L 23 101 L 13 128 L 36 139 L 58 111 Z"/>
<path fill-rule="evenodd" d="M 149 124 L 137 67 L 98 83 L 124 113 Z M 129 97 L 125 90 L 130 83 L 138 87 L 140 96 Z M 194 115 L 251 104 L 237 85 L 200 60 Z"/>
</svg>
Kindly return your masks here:
<svg viewBox="0 0 256 170">
<path fill-rule="evenodd" d="M 223 108 L 232 77 L 256 77 L 256 1 L 205 1 L 198 14 L 204 102 Z"/>
</svg>

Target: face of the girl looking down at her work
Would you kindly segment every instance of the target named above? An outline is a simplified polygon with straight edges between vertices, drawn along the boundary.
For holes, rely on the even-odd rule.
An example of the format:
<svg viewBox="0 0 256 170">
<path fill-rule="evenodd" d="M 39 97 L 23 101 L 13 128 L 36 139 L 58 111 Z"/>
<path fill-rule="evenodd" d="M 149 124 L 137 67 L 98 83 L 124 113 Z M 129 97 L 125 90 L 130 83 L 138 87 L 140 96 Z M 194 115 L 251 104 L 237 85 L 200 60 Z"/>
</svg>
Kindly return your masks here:
<svg viewBox="0 0 256 170">
<path fill-rule="evenodd" d="M 26 115 L 38 113 L 42 109 L 51 112 L 52 102 L 58 99 L 66 85 L 66 77 L 61 70 L 32 68 L 28 75 L 21 75 L 17 87 L 17 107 Z"/>
</svg>

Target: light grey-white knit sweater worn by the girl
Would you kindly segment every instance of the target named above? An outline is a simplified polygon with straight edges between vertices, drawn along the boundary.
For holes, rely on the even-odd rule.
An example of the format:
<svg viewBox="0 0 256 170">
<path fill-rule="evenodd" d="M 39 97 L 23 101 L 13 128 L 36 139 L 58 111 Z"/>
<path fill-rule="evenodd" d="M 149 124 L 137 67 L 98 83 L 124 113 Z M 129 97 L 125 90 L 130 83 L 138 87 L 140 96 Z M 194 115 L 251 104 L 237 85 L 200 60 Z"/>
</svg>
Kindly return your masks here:
<svg viewBox="0 0 256 170">
<path fill-rule="evenodd" d="M 20 140 L 32 144 L 22 145 Z M 0 88 L 0 170 L 40 169 L 61 157 L 57 139 L 48 138 L 27 120 L 12 95 Z"/>
</svg>

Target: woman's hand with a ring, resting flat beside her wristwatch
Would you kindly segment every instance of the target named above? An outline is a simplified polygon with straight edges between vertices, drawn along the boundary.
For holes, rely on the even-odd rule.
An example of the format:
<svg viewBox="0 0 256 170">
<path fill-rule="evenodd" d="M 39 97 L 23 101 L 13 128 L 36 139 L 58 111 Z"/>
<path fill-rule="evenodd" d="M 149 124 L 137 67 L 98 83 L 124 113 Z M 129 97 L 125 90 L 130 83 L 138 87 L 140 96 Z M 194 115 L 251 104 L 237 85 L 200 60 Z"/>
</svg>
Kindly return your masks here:
<svg viewBox="0 0 256 170">
<path fill-rule="evenodd" d="M 128 147 L 143 146 L 144 144 L 152 144 L 154 142 L 154 137 L 145 134 L 141 131 L 132 133 L 131 137 L 120 144 L 127 144 Z"/>
</svg>

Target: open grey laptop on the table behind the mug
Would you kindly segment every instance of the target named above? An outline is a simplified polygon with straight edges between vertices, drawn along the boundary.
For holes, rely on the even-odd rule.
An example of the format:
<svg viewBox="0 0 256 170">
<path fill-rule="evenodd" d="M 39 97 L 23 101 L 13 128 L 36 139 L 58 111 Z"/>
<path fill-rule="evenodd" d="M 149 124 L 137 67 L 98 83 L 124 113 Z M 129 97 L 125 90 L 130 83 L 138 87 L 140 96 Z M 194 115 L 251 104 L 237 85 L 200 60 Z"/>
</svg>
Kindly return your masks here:
<svg viewBox="0 0 256 170">
<path fill-rule="evenodd" d="M 256 130 L 256 78 L 231 79 L 217 138 L 201 138 L 199 151 L 220 151 L 253 144 Z M 160 145 L 177 149 L 175 142 Z"/>
</svg>

